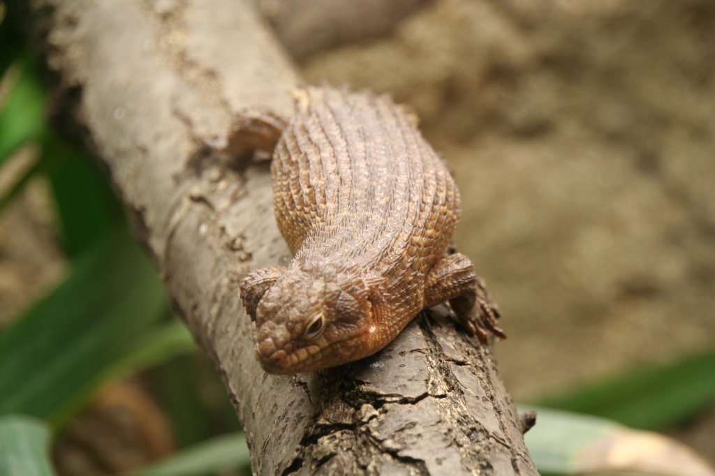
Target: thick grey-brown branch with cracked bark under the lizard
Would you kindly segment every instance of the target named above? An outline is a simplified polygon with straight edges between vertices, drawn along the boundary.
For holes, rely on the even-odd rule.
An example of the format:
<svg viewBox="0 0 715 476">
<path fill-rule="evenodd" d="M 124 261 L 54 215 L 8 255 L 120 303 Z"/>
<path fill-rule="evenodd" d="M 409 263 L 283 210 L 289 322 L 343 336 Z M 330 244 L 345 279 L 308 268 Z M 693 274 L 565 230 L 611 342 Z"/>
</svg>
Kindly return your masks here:
<svg viewBox="0 0 715 476">
<path fill-rule="evenodd" d="M 220 370 L 257 474 L 536 474 L 490 349 L 444 309 L 362 362 L 297 377 L 260 369 L 237 284 L 289 252 L 267 167 L 222 151 L 242 109 L 290 114 L 298 79 L 250 4 L 30 6 L 71 112 L 61 117 L 109 169 L 169 295 Z"/>
</svg>

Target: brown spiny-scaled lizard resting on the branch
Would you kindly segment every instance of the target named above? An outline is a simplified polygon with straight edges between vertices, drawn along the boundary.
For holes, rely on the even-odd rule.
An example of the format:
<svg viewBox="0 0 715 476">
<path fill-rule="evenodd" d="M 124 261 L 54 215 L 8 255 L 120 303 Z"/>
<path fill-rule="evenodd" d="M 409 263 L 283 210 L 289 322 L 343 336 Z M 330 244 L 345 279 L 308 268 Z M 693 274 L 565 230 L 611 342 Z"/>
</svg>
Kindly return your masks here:
<svg viewBox="0 0 715 476">
<path fill-rule="evenodd" d="M 480 342 L 506 337 L 470 259 L 445 253 L 460 196 L 415 116 L 368 91 L 293 94 L 292 116 L 254 111 L 236 129 L 272 152 L 275 219 L 292 253 L 290 264 L 240 284 L 263 369 L 290 375 L 359 360 L 443 302 Z"/>
</svg>

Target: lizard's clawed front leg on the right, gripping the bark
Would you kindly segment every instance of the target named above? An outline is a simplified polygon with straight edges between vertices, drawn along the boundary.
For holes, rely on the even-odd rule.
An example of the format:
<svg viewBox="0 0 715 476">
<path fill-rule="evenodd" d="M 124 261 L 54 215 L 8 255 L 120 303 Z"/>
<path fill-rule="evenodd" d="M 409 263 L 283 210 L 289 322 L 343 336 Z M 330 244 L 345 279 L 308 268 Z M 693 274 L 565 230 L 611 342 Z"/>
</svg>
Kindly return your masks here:
<svg viewBox="0 0 715 476">
<path fill-rule="evenodd" d="M 484 285 L 474 272 L 474 265 L 461 253 L 440 259 L 430 269 L 425 282 L 425 308 L 449 301 L 460 324 L 467 332 L 487 342 L 488 331 L 506 338 L 497 325 L 499 313 L 489 301 Z"/>
</svg>

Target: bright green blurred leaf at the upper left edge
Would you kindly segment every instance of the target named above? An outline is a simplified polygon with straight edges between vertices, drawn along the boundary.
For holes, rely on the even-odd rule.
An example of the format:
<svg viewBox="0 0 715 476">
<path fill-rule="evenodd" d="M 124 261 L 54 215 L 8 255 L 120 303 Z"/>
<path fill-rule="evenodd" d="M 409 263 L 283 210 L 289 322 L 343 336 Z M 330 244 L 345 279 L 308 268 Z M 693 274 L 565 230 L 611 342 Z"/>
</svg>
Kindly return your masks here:
<svg viewBox="0 0 715 476">
<path fill-rule="evenodd" d="M 0 110 L 0 166 L 28 141 L 44 131 L 46 92 L 29 54 L 20 61 L 20 74 Z"/>
</svg>

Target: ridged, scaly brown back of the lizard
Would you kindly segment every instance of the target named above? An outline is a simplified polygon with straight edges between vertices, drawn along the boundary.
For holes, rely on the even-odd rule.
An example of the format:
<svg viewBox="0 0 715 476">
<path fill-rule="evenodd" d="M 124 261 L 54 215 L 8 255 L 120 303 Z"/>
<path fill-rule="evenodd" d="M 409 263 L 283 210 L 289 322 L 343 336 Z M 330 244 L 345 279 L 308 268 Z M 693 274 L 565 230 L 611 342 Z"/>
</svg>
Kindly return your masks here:
<svg viewBox="0 0 715 476">
<path fill-rule="evenodd" d="M 387 97 L 300 94 L 272 162 L 276 219 L 295 259 L 327 259 L 415 289 L 459 219 L 448 169 Z"/>
</svg>

